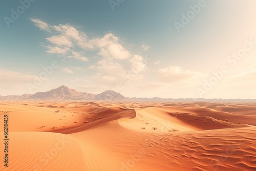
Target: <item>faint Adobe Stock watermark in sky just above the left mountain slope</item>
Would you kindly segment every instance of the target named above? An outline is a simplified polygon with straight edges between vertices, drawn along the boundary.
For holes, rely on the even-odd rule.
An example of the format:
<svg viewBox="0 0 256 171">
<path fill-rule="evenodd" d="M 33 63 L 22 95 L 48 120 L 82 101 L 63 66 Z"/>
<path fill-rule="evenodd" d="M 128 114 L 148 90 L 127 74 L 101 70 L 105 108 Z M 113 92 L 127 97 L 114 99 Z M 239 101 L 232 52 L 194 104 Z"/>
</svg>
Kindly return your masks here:
<svg viewBox="0 0 256 171">
<path fill-rule="evenodd" d="M 40 72 L 38 76 L 35 75 L 34 81 L 32 83 L 31 82 L 27 83 L 27 88 L 29 92 L 32 94 L 33 89 L 36 89 L 38 86 L 42 84 L 43 81 L 47 80 L 48 76 L 53 73 L 53 70 L 58 67 L 59 67 L 59 64 L 55 60 L 51 62 L 50 66 L 42 67 L 42 70 L 44 71 Z"/>
</svg>

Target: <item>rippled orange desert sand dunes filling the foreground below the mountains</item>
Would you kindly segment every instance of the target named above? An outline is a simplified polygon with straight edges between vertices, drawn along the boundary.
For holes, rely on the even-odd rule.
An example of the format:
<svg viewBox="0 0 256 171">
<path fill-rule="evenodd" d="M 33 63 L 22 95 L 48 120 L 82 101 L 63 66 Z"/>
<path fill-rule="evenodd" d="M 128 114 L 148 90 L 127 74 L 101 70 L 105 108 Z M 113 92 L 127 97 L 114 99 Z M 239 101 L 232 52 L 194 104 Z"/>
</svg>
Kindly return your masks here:
<svg viewBox="0 0 256 171">
<path fill-rule="evenodd" d="M 252 102 L 2 101 L 1 135 L 5 114 L 0 170 L 256 170 Z"/>
</svg>

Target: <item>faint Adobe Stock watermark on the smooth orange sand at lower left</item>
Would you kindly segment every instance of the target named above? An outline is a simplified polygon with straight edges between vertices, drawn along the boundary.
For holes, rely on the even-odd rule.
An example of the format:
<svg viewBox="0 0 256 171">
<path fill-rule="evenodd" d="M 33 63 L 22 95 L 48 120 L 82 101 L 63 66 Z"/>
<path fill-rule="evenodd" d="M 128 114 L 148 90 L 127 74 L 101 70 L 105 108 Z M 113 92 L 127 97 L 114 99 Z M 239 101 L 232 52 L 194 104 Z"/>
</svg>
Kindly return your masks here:
<svg viewBox="0 0 256 171">
<path fill-rule="evenodd" d="M 46 151 L 44 154 L 42 154 L 38 160 L 37 160 L 37 164 L 35 164 L 32 167 L 33 171 L 37 171 L 37 170 L 42 170 L 43 168 L 45 168 L 48 164 L 50 160 L 53 160 L 58 153 L 67 145 L 69 144 L 69 141 L 65 140 L 64 137 L 62 137 L 62 139 L 57 138 L 57 143 L 51 148 L 49 149 L 49 151 Z M 31 171 L 31 169 L 29 169 Z"/>
</svg>

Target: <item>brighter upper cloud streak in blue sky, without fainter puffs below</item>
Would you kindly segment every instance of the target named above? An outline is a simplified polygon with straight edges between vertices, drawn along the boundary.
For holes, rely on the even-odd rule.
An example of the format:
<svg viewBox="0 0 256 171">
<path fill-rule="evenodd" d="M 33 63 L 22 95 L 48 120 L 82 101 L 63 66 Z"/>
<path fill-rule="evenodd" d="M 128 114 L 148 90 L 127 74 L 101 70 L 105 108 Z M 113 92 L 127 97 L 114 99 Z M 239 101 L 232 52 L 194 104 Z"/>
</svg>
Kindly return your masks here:
<svg viewBox="0 0 256 171">
<path fill-rule="evenodd" d="M 31 21 L 41 30 L 53 34 L 51 37 L 46 38 L 51 44 L 45 46 L 48 48 L 47 53 L 66 54 L 72 51 L 73 55 L 68 56 L 68 58 L 88 61 L 88 58 L 77 51 L 78 48 L 82 48 L 85 51 L 98 51 L 97 54 L 101 57 L 112 57 L 120 60 L 130 57 L 130 52 L 119 44 L 119 38 L 112 33 L 105 34 L 101 38 L 89 39 L 86 33 L 78 31 L 70 24 L 50 26 L 39 19 L 31 18 Z M 71 47 L 73 48 L 72 50 L 70 50 Z"/>
</svg>

